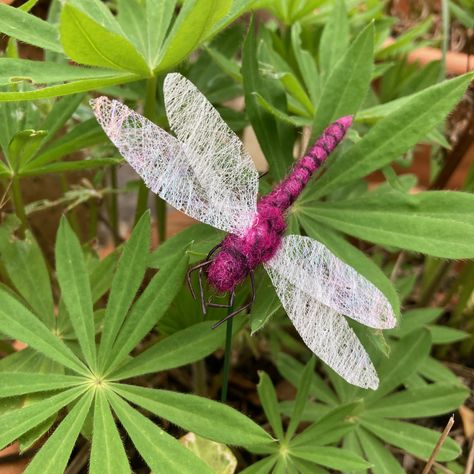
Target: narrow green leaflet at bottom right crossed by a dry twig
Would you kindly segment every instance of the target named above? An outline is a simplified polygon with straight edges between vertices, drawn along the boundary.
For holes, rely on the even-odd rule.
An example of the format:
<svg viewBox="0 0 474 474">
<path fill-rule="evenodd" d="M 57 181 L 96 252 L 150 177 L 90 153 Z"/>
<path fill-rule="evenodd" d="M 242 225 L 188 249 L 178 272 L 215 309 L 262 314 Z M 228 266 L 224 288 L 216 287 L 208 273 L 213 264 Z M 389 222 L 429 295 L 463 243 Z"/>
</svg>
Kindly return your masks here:
<svg viewBox="0 0 474 474">
<path fill-rule="evenodd" d="M 383 441 L 428 459 L 440 437 L 440 433 L 422 426 L 380 418 L 361 418 L 361 425 Z M 447 438 L 441 447 L 436 461 L 451 461 L 461 454 L 461 448 L 451 438 Z"/>
</svg>

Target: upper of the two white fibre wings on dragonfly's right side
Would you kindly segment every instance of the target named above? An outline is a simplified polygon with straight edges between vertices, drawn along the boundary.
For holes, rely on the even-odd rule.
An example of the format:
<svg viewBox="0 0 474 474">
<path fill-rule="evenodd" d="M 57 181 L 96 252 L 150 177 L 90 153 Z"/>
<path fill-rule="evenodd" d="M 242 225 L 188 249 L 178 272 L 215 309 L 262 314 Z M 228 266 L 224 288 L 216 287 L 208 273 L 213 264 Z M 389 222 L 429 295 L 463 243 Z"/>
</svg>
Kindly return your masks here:
<svg viewBox="0 0 474 474">
<path fill-rule="evenodd" d="M 383 293 L 316 240 L 285 237 L 269 265 L 284 269 L 293 285 L 337 313 L 373 328 L 393 328 L 397 323 Z"/>
</svg>

